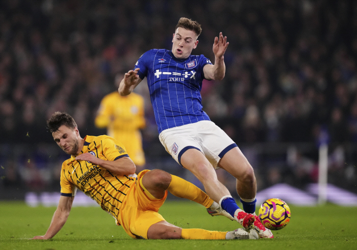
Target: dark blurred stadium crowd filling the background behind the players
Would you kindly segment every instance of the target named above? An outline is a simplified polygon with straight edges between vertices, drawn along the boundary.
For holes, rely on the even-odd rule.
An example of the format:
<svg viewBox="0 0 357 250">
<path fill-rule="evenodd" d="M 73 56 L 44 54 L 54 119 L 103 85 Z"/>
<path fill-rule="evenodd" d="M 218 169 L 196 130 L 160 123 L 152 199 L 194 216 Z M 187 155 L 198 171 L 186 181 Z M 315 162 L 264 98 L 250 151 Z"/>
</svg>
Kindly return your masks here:
<svg viewBox="0 0 357 250">
<path fill-rule="evenodd" d="M 352 0 L 1 1 L 3 186 L 22 180 L 29 189 L 52 182 L 58 189 L 66 155 L 45 120 L 66 111 L 82 133 L 105 133 L 94 127 L 94 118 L 100 99 L 116 90 L 116 74 L 132 69 L 148 49 L 170 49 L 182 16 L 202 26 L 194 54 L 214 61 L 214 37 L 222 32 L 230 42 L 225 78 L 203 83 L 203 110 L 242 147 L 261 188 L 316 181 L 316 144 L 328 140 L 329 181 L 356 190 L 357 2 Z M 148 167 L 174 165 L 158 140 L 141 85 L 144 149 L 153 158 Z M 289 146 L 280 156 L 258 156 L 257 145 L 267 151 L 281 143 L 302 149 Z M 181 171 L 174 168 L 169 171 Z"/>
</svg>

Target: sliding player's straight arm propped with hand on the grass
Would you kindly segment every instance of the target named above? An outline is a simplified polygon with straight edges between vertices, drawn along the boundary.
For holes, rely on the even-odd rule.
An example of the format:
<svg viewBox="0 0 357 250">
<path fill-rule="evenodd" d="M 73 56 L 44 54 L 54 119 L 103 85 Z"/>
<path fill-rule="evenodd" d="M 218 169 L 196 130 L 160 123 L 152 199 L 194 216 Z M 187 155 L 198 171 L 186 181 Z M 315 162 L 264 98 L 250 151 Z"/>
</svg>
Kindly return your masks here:
<svg viewBox="0 0 357 250">
<path fill-rule="evenodd" d="M 58 203 L 58 207 L 52 217 L 52 221 L 47 229 L 45 235 L 35 236 L 32 240 L 47 240 L 54 237 L 63 227 L 64 223 L 66 223 L 69 212 L 71 211 L 73 204 L 74 196 L 67 197 L 61 196 L 60 201 Z"/>
</svg>

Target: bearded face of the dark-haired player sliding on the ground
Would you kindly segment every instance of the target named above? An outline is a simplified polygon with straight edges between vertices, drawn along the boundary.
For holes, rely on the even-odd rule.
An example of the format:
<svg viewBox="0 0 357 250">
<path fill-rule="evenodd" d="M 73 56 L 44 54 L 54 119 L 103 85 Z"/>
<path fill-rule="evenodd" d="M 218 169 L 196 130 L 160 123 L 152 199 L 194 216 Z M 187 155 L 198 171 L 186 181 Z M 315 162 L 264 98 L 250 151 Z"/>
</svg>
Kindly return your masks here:
<svg viewBox="0 0 357 250">
<path fill-rule="evenodd" d="M 64 152 L 68 155 L 77 155 L 79 152 L 79 131 L 77 127 L 70 129 L 62 125 L 58 131 L 53 132 L 52 136 Z"/>
</svg>

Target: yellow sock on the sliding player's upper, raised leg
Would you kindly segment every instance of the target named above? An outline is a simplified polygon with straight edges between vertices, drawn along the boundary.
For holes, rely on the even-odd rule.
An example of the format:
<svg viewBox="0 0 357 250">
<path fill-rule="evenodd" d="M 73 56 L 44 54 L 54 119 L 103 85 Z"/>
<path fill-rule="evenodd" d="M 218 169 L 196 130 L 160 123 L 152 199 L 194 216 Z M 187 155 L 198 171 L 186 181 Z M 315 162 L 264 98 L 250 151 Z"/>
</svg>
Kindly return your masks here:
<svg viewBox="0 0 357 250">
<path fill-rule="evenodd" d="M 190 199 L 206 208 L 209 208 L 212 205 L 213 199 L 192 183 L 172 174 L 171 178 L 171 183 L 167 190 L 173 195 L 180 198 Z"/>
</svg>

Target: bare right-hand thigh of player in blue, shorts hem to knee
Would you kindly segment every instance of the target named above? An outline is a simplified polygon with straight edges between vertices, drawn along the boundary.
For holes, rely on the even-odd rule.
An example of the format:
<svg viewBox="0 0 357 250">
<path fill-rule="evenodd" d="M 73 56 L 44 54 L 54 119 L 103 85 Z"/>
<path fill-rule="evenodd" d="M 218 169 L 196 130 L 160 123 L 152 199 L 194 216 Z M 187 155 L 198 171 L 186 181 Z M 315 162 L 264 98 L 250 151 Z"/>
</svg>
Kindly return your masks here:
<svg viewBox="0 0 357 250">
<path fill-rule="evenodd" d="M 218 162 L 218 166 L 231 173 L 238 180 L 243 181 L 254 176 L 253 168 L 239 147 L 234 147 L 225 153 Z"/>
</svg>

